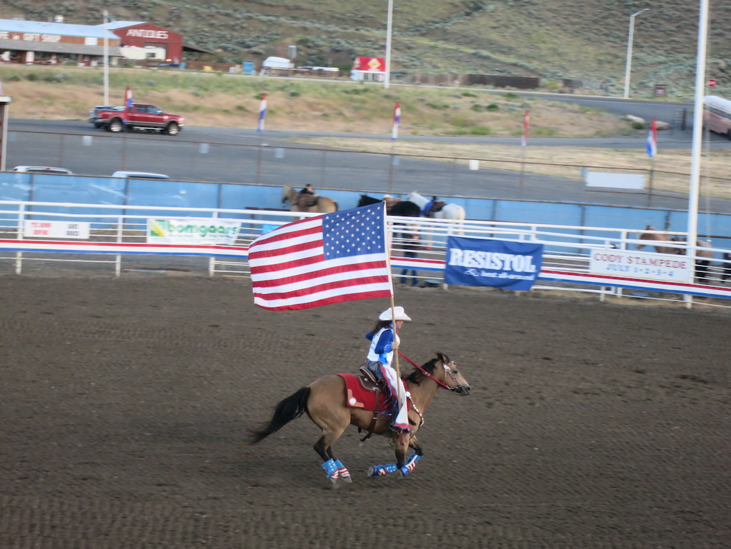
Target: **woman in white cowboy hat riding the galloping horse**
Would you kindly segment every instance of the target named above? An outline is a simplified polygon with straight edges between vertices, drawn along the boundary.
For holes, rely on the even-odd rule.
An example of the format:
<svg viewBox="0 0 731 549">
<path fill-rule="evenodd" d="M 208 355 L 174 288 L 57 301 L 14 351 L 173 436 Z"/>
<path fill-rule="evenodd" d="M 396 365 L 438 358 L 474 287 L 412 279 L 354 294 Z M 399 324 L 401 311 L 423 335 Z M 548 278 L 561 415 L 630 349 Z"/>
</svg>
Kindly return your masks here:
<svg viewBox="0 0 731 549">
<path fill-rule="evenodd" d="M 411 433 L 411 429 L 406 409 L 406 388 L 402 386 L 401 391 L 398 390 L 397 384 L 401 383 L 401 380 L 396 375 L 396 370 L 391 367 L 391 362 L 400 342 L 398 330 L 404 325 L 404 321 L 410 320 L 409 315 L 404 312 L 404 307 L 393 307 L 393 311 L 388 308 L 379 315 L 374 329 L 366 334 L 366 339 L 371 341 L 366 367 L 376 375 L 376 378 L 385 381 L 390 392 L 389 400 L 393 403 L 391 428 L 397 433 Z"/>
</svg>

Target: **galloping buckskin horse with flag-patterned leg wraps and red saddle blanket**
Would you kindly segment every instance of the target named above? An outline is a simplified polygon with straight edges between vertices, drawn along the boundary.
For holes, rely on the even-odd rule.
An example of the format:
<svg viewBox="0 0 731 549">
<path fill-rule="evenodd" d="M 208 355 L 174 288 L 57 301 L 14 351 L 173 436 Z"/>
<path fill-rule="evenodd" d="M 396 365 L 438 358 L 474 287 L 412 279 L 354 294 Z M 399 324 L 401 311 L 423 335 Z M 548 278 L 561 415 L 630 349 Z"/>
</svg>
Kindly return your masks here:
<svg viewBox="0 0 731 549">
<path fill-rule="evenodd" d="M 411 361 L 409 361 L 411 362 Z M 339 375 L 325 376 L 313 381 L 306 387 L 299 389 L 289 397 L 281 400 L 274 409 L 274 414 L 268 424 L 260 429 L 251 430 L 251 444 L 256 444 L 262 438 L 276 433 L 292 419 L 307 414 L 310 419 L 322 430 L 322 436 L 315 443 L 314 449 L 325 462 L 322 468 L 327 478 L 333 484 L 341 479 L 352 482 L 349 471 L 333 454 L 333 444 L 344 433 L 348 425 L 355 425 L 361 430 L 390 437 L 395 448 L 396 463 L 373 466 L 368 470 L 368 476 L 381 475 L 398 471 L 399 476 L 409 474 L 423 455 L 421 444 L 416 438 L 417 430 L 423 423 L 423 414 L 431 403 L 434 393 L 439 386 L 449 389 L 458 395 L 469 395 L 470 386 L 457 370 L 457 365 L 446 354 L 436 353 L 436 359 L 431 359 L 425 365 L 414 365 L 414 371 L 408 376 L 402 376 L 405 381 L 409 400 L 409 425 L 411 433 L 406 435 L 393 433 L 389 429 L 389 417 L 376 414 L 366 408 L 348 406 L 347 400 L 355 400 L 352 393 L 346 390 L 346 382 Z M 352 403 L 352 402 L 351 402 Z M 364 439 L 365 439 L 364 438 Z M 414 454 L 406 460 L 406 449 L 411 447 Z"/>
</svg>

